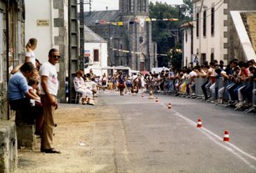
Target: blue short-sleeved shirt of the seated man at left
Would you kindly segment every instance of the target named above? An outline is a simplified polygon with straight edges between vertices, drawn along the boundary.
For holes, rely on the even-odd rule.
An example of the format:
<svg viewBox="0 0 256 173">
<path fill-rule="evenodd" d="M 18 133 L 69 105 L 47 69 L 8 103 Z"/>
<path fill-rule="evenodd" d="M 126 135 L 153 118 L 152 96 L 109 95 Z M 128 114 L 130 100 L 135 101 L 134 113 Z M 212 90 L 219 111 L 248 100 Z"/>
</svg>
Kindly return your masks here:
<svg viewBox="0 0 256 173">
<path fill-rule="evenodd" d="M 22 72 L 17 72 L 10 77 L 8 83 L 8 99 L 9 101 L 23 99 L 28 92 L 28 82 Z"/>
</svg>

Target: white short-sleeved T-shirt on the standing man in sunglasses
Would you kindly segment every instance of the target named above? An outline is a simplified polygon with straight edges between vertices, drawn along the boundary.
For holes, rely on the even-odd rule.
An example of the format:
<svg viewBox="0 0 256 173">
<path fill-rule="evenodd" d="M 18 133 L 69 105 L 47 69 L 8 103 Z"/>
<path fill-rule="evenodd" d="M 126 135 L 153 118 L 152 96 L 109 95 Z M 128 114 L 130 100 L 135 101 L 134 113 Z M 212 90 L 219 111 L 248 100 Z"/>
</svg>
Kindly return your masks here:
<svg viewBox="0 0 256 173">
<path fill-rule="evenodd" d="M 58 94 L 58 75 L 56 71 L 55 65 L 52 65 L 49 61 L 44 63 L 40 67 L 40 79 L 42 79 L 42 76 L 47 76 L 47 87 L 50 92 L 50 94 L 57 95 Z M 41 80 L 42 82 L 42 80 Z M 42 88 L 42 83 L 40 82 L 40 89 L 42 90 L 42 94 L 45 94 L 43 88 Z"/>
</svg>

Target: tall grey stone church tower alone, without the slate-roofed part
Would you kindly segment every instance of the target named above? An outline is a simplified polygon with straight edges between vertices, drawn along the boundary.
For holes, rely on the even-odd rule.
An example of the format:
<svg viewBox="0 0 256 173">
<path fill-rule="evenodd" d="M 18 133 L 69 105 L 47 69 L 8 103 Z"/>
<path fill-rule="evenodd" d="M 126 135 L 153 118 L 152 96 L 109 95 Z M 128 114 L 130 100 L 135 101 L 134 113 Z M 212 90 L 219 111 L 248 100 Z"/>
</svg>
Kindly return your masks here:
<svg viewBox="0 0 256 173">
<path fill-rule="evenodd" d="M 146 22 L 148 0 L 119 0 L 119 14 L 123 22 L 121 48 L 130 53 L 121 53 L 117 64 L 139 71 L 151 70 L 157 66 L 157 47 L 152 42 L 151 22 Z"/>
</svg>

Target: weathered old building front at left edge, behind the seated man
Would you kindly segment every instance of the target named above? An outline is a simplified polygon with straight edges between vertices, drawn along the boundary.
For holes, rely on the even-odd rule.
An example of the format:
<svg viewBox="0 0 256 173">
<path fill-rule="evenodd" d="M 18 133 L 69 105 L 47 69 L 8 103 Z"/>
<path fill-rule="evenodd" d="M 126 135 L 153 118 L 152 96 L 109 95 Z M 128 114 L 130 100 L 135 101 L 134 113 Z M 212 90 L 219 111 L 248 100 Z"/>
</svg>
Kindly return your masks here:
<svg viewBox="0 0 256 173">
<path fill-rule="evenodd" d="M 0 0 L 0 119 L 8 120 L 7 84 L 13 67 L 22 63 L 24 54 L 24 1 Z"/>
</svg>

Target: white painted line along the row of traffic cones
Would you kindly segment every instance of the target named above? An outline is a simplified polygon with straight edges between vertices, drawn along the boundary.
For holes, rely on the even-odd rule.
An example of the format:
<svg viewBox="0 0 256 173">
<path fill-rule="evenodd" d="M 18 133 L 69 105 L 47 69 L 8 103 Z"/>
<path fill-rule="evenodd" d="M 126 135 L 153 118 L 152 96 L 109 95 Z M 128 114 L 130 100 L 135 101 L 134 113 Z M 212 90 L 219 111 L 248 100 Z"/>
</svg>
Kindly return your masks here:
<svg viewBox="0 0 256 173">
<path fill-rule="evenodd" d="M 167 106 L 165 106 L 163 103 L 161 104 L 162 106 L 164 106 L 164 108 L 166 110 L 168 110 Z M 168 110 L 170 111 L 170 110 Z M 171 110 L 173 113 L 175 113 L 174 115 L 181 117 L 183 120 L 186 120 L 187 122 L 189 122 L 189 124 L 191 124 L 192 126 L 196 126 L 196 122 L 193 122 L 192 120 L 190 120 L 189 118 L 183 116 L 182 114 L 178 113 L 176 110 Z M 227 149 L 228 151 L 230 151 L 232 154 L 234 154 L 235 156 L 237 156 L 240 160 L 242 160 L 244 163 L 246 163 L 246 165 L 249 165 L 251 168 L 253 168 L 254 170 L 256 170 L 255 165 L 251 164 L 248 160 L 246 160 L 246 158 L 244 158 L 243 156 L 241 156 L 241 154 L 244 154 L 244 156 L 247 156 L 248 158 L 251 158 L 253 160 L 256 160 L 256 158 L 248 153 L 246 153 L 245 151 L 239 149 L 239 147 L 236 147 L 235 145 L 232 145 L 230 142 L 225 143 L 225 145 L 223 145 L 222 140 L 223 138 L 219 137 L 219 135 L 214 134 L 212 131 L 203 128 L 198 129 L 200 131 L 202 131 L 205 135 L 207 135 L 208 138 L 210 138 L 210 140 L 214 141 L 217 145 L 220 145 L 221 147 L 223 147 L 224 149 Z M 212 136 L 214 136 L 215 138 L 217 138 L 218 140 L 212 138 Z M 221 140 L 221 142 L 219 142 Z M 226 145 L 230 145 L 230 147 L 226 146 Z M 233 148 L 233 149 L 232 149 Z M 237 150 L 237 151 L 234 151 Z"/>
</svg>

